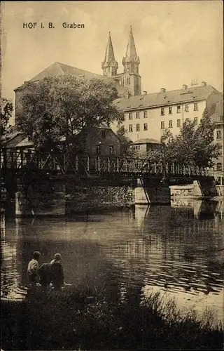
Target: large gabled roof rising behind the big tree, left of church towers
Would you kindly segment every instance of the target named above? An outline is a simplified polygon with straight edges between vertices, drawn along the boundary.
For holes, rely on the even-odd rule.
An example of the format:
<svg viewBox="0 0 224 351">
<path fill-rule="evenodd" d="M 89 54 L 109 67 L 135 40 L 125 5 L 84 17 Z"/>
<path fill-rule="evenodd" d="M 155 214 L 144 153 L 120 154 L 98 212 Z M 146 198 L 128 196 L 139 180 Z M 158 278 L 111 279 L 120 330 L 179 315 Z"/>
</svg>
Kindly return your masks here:
<svg viewBox="0 0 224 351">
<path fill-rule="evenodd" d="M 111 77 L 105 77 L 105 76 L 102 76 L 101 74 L 85 71 L 84 69 L 72 67 L 69 65 L 64 65 L 64 63 L 60 63 L 60 62 L 52 63 L 52 65 L 43 69 L 42 72 L 37 74 L 34 78 L 30 79 L 29 81 L 40 81 L 45 77 L 59 77 L 59 76 L 69 75 L 69 74 L 76 77 L 84 77 L 86 79 L 97 78 L 97 79 L 104 79 L 104 81 L 114 81 L 113 78 Z M 23 84 L 22 86 L 18 86 L 18 88 L 15 88 L 14 91 L 17 91 L 20 88 L 23 88 L 23 86 L 24 86 Z M 120 84 L 116 83 L 116 88 L 120 96 L 123 96 L 126 93 L 126 89 L 123 86 L 120 86 Z"/>
</svg>

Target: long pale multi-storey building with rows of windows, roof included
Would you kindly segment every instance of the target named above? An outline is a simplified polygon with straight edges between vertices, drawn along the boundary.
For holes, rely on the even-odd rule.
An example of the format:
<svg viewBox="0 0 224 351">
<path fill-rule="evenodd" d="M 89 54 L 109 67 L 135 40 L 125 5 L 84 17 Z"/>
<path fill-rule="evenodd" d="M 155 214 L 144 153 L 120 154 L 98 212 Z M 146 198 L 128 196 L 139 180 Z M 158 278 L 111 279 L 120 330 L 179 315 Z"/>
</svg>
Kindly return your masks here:
<svg viewBox="0 0 224 351">
<path fill-rule="evenodd" d="M 211 118 L 216 121 L 214 141 L 222 145 L 222 153 L 214 162 L 217 170 L 223 170 L 223 95 L 213 86 L 203 81 L 201 86 L 188 88 L 184 84 L 175 91 L 161 88 L 158 93 L 145 92 L 144 95 L 119 98 L 114 104 L 125 113 L 125 121 L 120 127 L 134 145 L 138 145 L 138 140 L 161 140 L 167 129 L 174 136 L 179 135 L 184 121 L 189 119 L 197 126 L 205 107 L 216 105 L 216 112 Z"/>
</svg>

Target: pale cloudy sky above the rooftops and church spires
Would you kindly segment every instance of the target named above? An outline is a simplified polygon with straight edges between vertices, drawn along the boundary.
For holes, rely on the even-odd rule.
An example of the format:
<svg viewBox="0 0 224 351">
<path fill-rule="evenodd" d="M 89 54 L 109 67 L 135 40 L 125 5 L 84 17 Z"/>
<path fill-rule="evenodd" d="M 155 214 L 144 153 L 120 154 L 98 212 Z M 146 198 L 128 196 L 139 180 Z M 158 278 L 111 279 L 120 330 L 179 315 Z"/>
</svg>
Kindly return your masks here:
<svg viewBox="0 0 224 351">
<path fill-rule="evenodd" d="M 130 26 L 142 91 L 179 89 L 192 79 L 223 91 L 223 1 L 3 1 L 1 7 L 3 98 L 14 98 L 14 88 L 53 62 L 102 74 L 109 32 L 123 72 Z M 23 28 L 28 22 L 38 25 Z M 85 28 L 66 29 L 63 22 Z"/>
</svg>

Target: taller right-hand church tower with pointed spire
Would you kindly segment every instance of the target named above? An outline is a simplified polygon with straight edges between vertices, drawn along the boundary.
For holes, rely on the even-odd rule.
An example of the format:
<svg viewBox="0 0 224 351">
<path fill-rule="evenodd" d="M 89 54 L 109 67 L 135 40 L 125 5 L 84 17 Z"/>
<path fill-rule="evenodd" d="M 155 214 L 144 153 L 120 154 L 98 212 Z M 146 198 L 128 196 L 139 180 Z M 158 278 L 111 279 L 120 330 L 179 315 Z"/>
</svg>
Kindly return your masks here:
<svg viewBox="0 0 224 351">
<path fill-rule="evenodd" d="M 134 44 L 134 37 L 132 34 L 132 27 L 130 29 L 130 36 L 127 44 L 126 56 L 123 58 L 123 86 L 127 88 L 130 95 L 141 95 L 141 77 L 139 76 L 139 56 Z"/>
</svg>

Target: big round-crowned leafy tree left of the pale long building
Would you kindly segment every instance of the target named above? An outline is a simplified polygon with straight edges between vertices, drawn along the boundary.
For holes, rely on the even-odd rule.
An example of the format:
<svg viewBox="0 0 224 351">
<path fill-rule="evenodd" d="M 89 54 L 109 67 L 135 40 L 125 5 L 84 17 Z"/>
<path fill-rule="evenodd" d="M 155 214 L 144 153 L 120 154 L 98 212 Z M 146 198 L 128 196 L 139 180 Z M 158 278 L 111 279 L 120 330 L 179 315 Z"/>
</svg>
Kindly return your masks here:
<svg viewBox="0 0 224 351">
<path fill-rule="evenodd" d="M 18 126 L 36 147 L 69 143 L 83 128 L 123 121 L 112 104 L 118 98 L 113 82 L 80 77 L 47 77 L 28 82 L 20 99 Z"/>
</svg>

